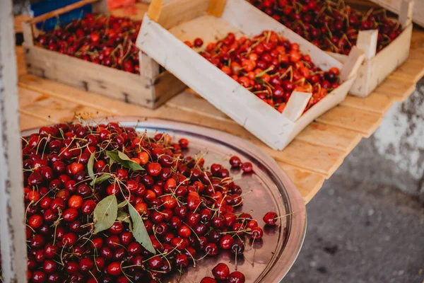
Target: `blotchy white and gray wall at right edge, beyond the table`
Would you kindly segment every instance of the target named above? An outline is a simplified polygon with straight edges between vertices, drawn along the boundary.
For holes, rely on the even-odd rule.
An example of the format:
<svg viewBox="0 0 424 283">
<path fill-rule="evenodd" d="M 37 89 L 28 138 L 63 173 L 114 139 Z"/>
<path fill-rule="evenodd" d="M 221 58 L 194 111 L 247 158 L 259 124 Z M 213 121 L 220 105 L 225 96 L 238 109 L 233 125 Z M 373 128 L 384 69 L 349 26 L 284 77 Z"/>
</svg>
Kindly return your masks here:
<svg viewBox="0 0 424 283">
<path fill-rule="evenodd" d="M 336 174 L 399 187 L 424 203 L 424 78 L 396 102 L 370 139 L 363 139 Z"/>
</svg>

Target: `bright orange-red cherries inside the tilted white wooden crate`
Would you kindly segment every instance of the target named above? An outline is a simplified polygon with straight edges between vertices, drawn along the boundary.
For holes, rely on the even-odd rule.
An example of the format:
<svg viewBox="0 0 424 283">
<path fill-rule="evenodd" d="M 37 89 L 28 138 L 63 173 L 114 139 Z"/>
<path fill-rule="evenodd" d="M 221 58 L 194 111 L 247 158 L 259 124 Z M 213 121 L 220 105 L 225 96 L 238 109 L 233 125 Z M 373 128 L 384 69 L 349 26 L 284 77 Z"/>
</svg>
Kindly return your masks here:
<svg viewBox="0 0 424 283">
<path fill-rule="evenodd" d="M 203 40 L 185 42 L 201 47 Z M 305 111 L 339 86 L 340 71 L 333 67 L 322 71 L 291 43 L 273 31 L 252 38 L 236 38 L 233 33 L 209 43 L 200 54 L 238 83 L 249 89 L 279 112 L 283 112 L 293 91 L 311 92 Z"/>
</svg>

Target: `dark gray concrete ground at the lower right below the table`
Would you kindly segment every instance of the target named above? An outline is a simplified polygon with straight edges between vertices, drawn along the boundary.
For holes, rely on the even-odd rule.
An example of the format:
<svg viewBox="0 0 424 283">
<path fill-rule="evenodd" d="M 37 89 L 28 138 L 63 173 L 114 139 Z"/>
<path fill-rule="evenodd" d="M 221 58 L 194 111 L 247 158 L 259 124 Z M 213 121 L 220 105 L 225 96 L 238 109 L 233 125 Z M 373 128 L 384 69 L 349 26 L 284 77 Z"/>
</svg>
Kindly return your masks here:
<svg viewBox="0 0 424 283">
<path fill-rule="evenodd" d="M 424 283 L 417 197 L 334 175 L 307 212 L 305 244 L 283 283 Z"/>
</svg>

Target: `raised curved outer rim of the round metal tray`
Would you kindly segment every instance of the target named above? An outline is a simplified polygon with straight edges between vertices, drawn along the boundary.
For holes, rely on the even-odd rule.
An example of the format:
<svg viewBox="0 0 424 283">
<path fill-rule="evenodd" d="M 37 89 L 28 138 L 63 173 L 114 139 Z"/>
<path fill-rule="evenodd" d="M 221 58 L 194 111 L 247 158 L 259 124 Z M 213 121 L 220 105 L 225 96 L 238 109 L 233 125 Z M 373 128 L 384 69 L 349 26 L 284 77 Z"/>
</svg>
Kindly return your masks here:
<svg viewBox="0 0 424 283">
<path fill-rule="evenodd" d="M 71 122 L 79 121 L 74 120 Z M 290 180 L 288 175 L 278 166 L 276 161 L 269 156 L 269 154 L 266 154 L 265 151 L 252 144 L 250 141 L 236 137 L 235 135 L 222 132 L 218 129 L 202 127 L 187 122 L 178 122 L 155 117 L 111 115 L 107 117 L 98 117 L 89 121 L 87 120 L 83 123 L 85 125 L 92 125 L 99 122 L 119 122 L 126 127 L 146 127 L 148 129 L 195 134 L 209 141 L 214 140 L 224 146 L 237 148 L 239 151 L 257 159 L 257 161 L 261 161 L 261 165 L 265 166 L 266 169 L 273 174 L 276 180 L 281 180 L 281 184 L 276 184 L 279 191 L 273 192 L 273 197 L 276 198 L 276 200 L 278 200 L 278 198 L 280 201 L 282 200 L 283 205 L 289 207 L 291 211 L 295 211 L 295 214 L 288 216 L 290 217 L 290 229 L 284 232 L 280 231 L 284 236 L 279 237 L 279 242 L 283 242 L 281 238 L 288 237 L 287 241 L 284 243 L 284 247 L 282 247 L 282 243 L 278 244 L 277 248 L 280 249 L 279 253 L 276 253 L 276 255 L 271 258 L 268 266 L 255 282 L 281 282 L 283 277 L 287 275 L 295 260 L 298 258 L 303 241 L 305 240 L 307 226 L 306 206 L 293 181 Z M 23 136 L 27 136 L 34 132 L 38 132 L 39 129 L 40 127 L 34 127 L 32 129 L 25 129 L 20 133 Z M 282 194 L 285 195 L 285 200 Z"/>
</svg>

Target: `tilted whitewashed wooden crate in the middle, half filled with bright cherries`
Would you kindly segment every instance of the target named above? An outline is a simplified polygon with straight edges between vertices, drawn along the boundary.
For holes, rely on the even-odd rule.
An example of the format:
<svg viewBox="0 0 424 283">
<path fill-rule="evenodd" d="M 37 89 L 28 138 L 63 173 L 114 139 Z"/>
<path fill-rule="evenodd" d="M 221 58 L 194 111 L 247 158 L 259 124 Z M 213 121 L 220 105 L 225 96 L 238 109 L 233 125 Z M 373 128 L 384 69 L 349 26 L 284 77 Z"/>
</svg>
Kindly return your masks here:
<svg viewBox="0 0 424 283">
<path fill-rule="evenodd" d="M 341 86 L 304 115 L 302 112 L 311 94 L 296 93 L 280 113 L 183 42 L 196 37 L 211 42 L 228 32 L 250 36 L 264 30 L 274 30 L 291 42 L 298 42 L 300 51 L 310 54 L 312 62 L 321 69 L 341 69 Z M 287 146 L 316 117 L 341 103 L 364 57 L 363 52 L 355 48 L 342 65 L 245 0 L 153 0 L 136 44 L 216 108 L 277 150 Z"/>
</svg>

